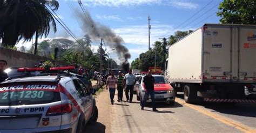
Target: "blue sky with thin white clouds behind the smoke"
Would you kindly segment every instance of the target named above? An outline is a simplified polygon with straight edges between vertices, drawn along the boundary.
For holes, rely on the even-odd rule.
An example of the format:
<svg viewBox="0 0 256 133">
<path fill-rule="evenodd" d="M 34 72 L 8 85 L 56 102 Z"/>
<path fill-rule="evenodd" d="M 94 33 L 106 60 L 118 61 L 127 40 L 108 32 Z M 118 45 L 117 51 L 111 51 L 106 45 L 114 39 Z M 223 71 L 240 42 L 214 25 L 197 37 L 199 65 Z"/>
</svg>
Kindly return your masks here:
<svg viewBox="0 0 256 133">
<path fill-rule="evenodd" d="M 82 12 L 77 0 L 58 0 L 57 16 L 64 21 L 76 38 L 86 33 L 82 30 L 82 22 L 75 12 Z M 205 23 L 218 24 L 216 16 L 220 0 L 81 0 L 84 8 L 92 19 L 99 24 L 108 26 L 124 40 L 123 45 L 130 51 L 129 62 L 149 49 L 148 16 L 151 25 L 151 47 L 159 38 L 168 38 L 176 31 L 197 29 Z M 57 23 L 57 21 L 56 21 Z M 44 39 L 67 38 L 74 40 L 64 28 L 57 23 L 57 32 Z M 97 51 L 98 40 L 92 40 L 92 49 Z M 32 42 L 19 42 L 17 47 L 31 47 Z M 104 45 L 107 51 L 111 50 Z M 110 57 L 118 61 L 115 51 L 109 52 Z M 119 62 L 120 63 L 120 62 Z"/>
</svg>

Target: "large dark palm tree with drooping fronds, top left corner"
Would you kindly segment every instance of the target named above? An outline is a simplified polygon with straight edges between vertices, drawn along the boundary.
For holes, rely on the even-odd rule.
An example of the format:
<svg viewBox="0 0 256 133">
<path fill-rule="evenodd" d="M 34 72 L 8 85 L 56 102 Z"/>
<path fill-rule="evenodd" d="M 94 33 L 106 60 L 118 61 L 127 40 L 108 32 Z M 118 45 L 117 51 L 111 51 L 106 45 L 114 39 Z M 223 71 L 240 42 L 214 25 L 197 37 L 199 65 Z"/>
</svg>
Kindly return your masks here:
<svg viewBox="0 0 256 133">
<path fill-rule="evenodd" d="M 56 23 L 51 12 L 46 8 L 49 5 L 58 10 L 57 0 L 0 0 L 0 35 L 3 46 L 15 46 L 17 41 L 30 41 L 34 34 L 37 37 L 48 36 L 50 24 L 56 32 Z M 36 40 L 37 42 L 37 40 Z M 37 44 L 35 46 L 35 54 Z"/>
</svg>

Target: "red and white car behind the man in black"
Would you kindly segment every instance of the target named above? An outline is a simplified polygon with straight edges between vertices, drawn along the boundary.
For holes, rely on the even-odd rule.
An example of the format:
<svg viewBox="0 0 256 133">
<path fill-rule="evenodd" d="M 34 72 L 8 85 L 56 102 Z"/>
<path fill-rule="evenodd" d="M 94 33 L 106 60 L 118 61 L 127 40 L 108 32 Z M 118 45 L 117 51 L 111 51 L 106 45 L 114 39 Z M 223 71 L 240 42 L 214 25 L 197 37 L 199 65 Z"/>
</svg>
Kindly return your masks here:
<svg viewBox="0 0 256 133">
<path fill-rule="evenodd" d="M 174 105 L 174 100 L 176 98 L 173 87 L 167 82 L 164 76 L 152 75 L 154 77 L 154 94 L 156 102 L 166 102 L 166 104 Z M 142 76 L 136 83 L 137 86 L 137 100 L 142 102 L 145 95 L 144 80 L 145 76 Z M 151 102 L 151 98 L 147 100 Z"/>
</svg>

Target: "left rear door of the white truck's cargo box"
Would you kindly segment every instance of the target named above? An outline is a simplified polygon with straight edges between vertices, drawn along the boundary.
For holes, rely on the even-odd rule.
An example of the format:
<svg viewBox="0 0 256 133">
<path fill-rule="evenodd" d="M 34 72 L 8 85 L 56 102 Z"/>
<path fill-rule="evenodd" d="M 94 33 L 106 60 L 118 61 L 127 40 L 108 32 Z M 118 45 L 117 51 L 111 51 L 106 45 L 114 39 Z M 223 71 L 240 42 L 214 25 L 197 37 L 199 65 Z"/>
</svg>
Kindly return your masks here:
<svg viewBox="0 0 256 133">
<path fill-rule="evenodd" d="M 228 80 L 231 78 L 231 49 L 233 34 L 230 28 L 204 29 L 205 80 Z"/>
</svg>

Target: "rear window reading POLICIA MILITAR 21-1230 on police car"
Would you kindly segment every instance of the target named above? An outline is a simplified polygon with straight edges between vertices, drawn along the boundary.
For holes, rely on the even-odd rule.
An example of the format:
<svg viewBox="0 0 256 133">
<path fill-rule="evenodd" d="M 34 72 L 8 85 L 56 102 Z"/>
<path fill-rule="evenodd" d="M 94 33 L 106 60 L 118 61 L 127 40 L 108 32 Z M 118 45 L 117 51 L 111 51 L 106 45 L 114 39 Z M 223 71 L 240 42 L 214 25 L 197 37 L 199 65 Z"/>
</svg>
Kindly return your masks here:
<svg viewBox="0 0 256 133">
<path fill-rule="evenodd" d="M 0 85 L 0 106 L 46 104 L 60 101 L 53 83 L 11 83 Z"/>
</svg>

